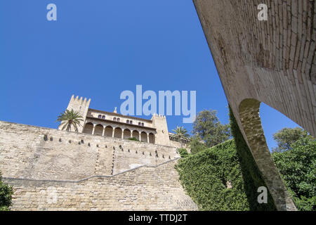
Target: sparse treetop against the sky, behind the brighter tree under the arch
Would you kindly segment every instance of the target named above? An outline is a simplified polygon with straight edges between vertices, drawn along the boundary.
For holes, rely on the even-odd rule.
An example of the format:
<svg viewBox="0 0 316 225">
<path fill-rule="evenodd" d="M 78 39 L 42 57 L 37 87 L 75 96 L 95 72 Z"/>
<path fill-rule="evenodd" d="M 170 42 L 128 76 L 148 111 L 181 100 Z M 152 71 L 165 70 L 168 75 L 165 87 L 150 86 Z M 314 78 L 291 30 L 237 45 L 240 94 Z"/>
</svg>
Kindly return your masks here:
<svg viewBox="0 0 316 225">
<path fill-rule="evenodd" d="M 306 136 L 309 136 L 308 132 L 299 127 L 283 128 L 282 130 L 273 134 L 273 139 L 277 142 L 277 148 L 273 148 L 272 152 L 283 152 L 285 150 L 290 150 L 292 143 L 295 143 L 298 141 L 298 139 Z"/>
</svg>

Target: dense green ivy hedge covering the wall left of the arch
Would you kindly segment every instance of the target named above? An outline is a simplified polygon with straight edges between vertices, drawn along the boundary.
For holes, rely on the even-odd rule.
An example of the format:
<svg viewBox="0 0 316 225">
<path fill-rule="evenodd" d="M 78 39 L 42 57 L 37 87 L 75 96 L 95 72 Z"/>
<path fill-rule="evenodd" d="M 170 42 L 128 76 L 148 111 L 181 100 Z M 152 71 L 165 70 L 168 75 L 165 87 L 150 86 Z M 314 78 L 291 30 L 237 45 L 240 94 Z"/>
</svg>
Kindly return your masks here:
<svg viewBox="0 0 316 225">
<path fill-rule="evenodd" d="M 231 127 L 235 139 L 178 161 L 181 184 L 199 210 L 276 210 L 270 193 L 267 204 L 258 203 L 265 183 L 232 115 Z"/>
</svg>

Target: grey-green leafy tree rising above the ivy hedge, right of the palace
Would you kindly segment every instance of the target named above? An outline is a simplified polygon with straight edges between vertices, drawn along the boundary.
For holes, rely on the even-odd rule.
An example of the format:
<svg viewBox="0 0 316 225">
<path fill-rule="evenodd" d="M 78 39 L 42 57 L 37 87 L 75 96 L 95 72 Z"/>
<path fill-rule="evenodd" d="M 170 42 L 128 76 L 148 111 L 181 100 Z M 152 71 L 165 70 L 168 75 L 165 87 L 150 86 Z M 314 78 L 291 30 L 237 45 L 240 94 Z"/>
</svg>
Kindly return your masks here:
<svg viewBox="0 0 316 225">
<path fill-rule="evenodd" d="M 199 135 L 208 147 L 230 139 L 230 125 L 221 124 L 216 113 L 216 110 L 203 110 L 193 123 L 192 134 Z"/>
</svg>

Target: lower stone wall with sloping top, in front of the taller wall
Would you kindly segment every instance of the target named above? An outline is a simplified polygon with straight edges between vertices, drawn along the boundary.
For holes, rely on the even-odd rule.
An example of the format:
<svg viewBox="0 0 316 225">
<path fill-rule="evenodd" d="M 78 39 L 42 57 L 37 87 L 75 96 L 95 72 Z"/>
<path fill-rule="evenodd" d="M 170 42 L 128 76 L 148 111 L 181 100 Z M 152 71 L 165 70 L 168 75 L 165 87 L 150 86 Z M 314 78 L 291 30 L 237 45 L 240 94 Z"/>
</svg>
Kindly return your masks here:
<svg viewBox="0 0 316 225">
<path fill-rule="evenodd" d="M 197 210 L 174 169 L 176 160 L 83 181 L 4 179 L 11 210 Z"/>
</svg>

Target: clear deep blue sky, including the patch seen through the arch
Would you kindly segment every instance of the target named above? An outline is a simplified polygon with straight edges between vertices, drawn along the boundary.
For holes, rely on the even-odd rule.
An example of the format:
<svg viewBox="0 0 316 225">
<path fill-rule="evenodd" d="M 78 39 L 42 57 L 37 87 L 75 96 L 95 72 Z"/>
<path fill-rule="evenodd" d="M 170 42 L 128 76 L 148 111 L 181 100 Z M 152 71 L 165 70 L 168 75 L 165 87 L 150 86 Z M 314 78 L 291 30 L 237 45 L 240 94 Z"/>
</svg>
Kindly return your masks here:
<svg viewBox="0 0 316 225">
<path fill-rule="evenodd" d="M 57 5 L 57 21 L 46 6 Z M 72 94 L 91 108 L 119 108 L 121 91 L 195 90 L 197 112 L 228 102 L 192 0 L 0 1 L 0 120 L 57 128 Z M 263 105 L 268 146 L 272 134 L 296 127 Z M 182 117 L 167 117 L 169 130 Z"/>
</svg>

